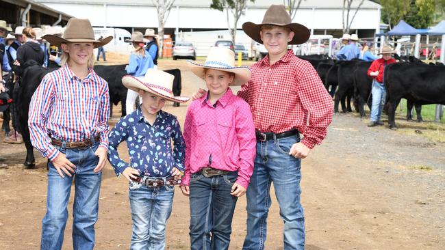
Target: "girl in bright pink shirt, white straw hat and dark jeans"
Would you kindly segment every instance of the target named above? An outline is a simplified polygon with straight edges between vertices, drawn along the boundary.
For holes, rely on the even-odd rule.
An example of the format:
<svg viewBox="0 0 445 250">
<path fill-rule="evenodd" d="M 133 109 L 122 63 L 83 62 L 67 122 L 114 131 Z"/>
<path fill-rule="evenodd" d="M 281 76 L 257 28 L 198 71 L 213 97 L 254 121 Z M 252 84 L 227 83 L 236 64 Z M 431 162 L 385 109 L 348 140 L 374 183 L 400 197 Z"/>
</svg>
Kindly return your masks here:
<svg viewBox="0 0 445 250">
<path fill-rule="evenodd" d="M 228 249 L 233 212 L 248 189 L 256 145 L 251 109 L 229 86 L 249 81 L 251 70 L 235 67 L 235 54 L 223 47 L 210 48 L 204 64 L 188 64 L 208 89 L 188 107 L 184 122 L 181 191 L 190 197 L 190 245 Z"/>
</svg>

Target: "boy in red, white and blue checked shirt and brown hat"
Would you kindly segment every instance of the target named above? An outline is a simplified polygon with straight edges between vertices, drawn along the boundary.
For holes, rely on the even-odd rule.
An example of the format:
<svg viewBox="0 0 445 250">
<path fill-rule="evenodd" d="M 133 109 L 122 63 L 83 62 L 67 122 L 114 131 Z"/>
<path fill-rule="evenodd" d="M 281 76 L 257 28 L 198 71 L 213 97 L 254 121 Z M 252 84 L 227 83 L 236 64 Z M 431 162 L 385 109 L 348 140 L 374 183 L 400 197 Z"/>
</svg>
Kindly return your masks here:
<svg viewBox="0 0 445 250">
<path fill-rule="evenodd" d="M 96 40 L 90 20 L 71 18 L 62 37 L 43 38 L 64 54 L 62 67 L 43 77 L 29 105 L 31 143 L 49 160 L 40 249 L 62 248 L 73 183 L 73 249 L 93 249 L 110 116 L 108 85 L 93 70 L 93 48 L 112 37 Z"/>
</svg>

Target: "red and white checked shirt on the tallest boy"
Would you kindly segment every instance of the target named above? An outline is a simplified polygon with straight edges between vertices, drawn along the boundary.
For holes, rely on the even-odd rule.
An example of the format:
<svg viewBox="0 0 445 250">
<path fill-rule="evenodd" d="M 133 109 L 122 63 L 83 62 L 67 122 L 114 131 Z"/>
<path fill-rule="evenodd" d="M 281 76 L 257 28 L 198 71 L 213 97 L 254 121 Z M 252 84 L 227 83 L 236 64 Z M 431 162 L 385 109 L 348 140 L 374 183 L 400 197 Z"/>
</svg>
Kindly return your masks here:
<svg viewBox="0 0 445 250">
<path fill-rule="evenodd" d="M 251 106 L 255 129 L 283 133 L 296 128 L 308 148 L 320 144 L 332 121 L 333 104 L 309 61 L 288 50 L 275 64 L 266 56 L 251 70 L 251 80 L 238 96 Z"/>
</svg>

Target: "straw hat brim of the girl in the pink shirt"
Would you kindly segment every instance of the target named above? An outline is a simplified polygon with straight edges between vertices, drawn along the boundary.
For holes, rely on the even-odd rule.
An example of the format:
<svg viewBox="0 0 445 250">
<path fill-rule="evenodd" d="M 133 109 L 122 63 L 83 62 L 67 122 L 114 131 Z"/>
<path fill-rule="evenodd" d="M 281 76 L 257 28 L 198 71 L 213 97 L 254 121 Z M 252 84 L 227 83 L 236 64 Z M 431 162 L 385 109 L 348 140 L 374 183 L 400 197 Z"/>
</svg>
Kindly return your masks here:
<svg viewBox="0 0 445 250">
<path fill-rule="evenodd" d="M 214 66 L 205 66 L 203 64 L 197 64 L 194 61 L 187 61 L 190 67 L 190 70 L 196 74 L 197 77 L 201 79 L 205 79 L 205 68 L 211 68 L 214 70 L 221 70 L 226 72 L 232 72 L 235 74 L 235 78 L 230 83 L 231 86 L 240 86 L 244 83 L 247 83 L 251 79 L 252 72 L 247 67 L 233 67 L 233 68 L 225 68 L 225 67 L 214 67 Z"/>
</svg>

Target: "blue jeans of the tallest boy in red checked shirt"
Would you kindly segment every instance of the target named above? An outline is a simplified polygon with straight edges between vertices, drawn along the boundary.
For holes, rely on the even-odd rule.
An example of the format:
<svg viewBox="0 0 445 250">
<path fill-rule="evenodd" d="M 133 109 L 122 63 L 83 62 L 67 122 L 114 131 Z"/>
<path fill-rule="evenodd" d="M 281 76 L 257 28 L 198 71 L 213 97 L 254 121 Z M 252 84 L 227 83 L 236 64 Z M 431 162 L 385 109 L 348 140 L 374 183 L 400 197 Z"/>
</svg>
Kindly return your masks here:
<svg viewBox="0 0 445 250">
<path fill-rule="evenodd" d="M 284 249 L 305 248 L 305 218 L 300 203 L 301 160 L 290 156 L 298 136 L 257 141 L 257 156 L 247 189 L 247 234 L 243 249 L 264 249 L 271 205 L 270 184 L 284 221 Z"/>
</svg>

